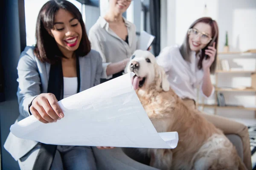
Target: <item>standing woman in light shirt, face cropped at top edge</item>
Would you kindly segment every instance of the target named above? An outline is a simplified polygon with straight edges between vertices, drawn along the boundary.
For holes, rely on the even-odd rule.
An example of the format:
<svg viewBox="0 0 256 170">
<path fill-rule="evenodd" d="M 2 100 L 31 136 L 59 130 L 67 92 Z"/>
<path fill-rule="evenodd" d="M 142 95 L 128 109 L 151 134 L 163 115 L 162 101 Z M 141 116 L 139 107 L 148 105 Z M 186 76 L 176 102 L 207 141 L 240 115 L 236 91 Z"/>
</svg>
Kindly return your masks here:
<svg viewBox="0 0 256 170">
<path fill-rule="evenodd" d="M 99 17 L 89 31 L 91 48 L 102 57 L 101 82 L 121 76 L 137 48 L 135 25 L 122 17 L 131 1 L 109 0 L 107 14 Z"/>
</svg>

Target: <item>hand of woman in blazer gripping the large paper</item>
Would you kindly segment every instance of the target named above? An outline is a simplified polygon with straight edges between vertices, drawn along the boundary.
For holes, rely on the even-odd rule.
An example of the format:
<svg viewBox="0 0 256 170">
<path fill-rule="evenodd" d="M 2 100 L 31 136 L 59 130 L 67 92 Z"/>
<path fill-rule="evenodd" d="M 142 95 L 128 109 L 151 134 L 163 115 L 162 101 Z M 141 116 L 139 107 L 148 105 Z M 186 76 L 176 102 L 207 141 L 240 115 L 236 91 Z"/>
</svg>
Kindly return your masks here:
<svg viewBox="0 0 256 170">
<path fill-rule="evenodd" d="M 29 111 L 40 122 L 57 122 L 64 117 L 64 113 L 58 105 L 58 100 L 54 94 L 43 93 L 35 97 Z"/>
</svg>

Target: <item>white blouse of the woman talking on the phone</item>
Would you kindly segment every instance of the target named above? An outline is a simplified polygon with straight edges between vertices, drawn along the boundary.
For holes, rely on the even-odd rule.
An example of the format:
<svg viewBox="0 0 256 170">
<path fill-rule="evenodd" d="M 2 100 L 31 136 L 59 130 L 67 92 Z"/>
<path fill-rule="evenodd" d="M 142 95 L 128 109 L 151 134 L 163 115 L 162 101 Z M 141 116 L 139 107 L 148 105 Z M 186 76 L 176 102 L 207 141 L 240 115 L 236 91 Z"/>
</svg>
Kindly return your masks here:
<svg viewBox="0 0 256 170">
<path fill-rule="evenodd" d="M 191 53 L 191 62 L 183 59 L 177 45 L 164 48 L 156 59 L 157 64 L 165 69 L 171 88 L 180 98 L 196 101 L 196 88 L 198 87 L 205 98 L 214 94 L 214 87 L 209 97 L 202 91 L 204 72 L 197 67 L 199 56 L 196 56 L 195 51 Z"/>
</svg>

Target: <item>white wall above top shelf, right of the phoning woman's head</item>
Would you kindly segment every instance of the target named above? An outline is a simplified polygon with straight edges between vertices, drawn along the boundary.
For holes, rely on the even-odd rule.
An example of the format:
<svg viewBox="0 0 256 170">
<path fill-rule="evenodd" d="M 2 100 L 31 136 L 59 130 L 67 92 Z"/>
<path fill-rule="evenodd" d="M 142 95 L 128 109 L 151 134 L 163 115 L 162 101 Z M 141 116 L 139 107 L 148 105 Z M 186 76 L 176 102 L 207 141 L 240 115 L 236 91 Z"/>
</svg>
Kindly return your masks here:
<svg viewBox="0 0 256 170">
<path fill-rule="evenodd" d="M 256 0 L 218 0 L 220 50 L 228 31 L 232 51 L 256 48 Z"/>
</svg>

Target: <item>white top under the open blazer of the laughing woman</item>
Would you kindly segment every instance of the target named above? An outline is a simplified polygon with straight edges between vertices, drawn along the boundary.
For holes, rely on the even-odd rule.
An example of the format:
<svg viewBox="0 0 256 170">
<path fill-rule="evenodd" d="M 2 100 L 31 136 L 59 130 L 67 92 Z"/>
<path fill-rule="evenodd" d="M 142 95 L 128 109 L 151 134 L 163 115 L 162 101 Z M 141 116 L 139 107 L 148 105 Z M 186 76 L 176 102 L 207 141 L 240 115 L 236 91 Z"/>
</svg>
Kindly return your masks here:
<svg viewBox="0 0 256 170">
<path fill-rule="evenodd" d="M 77 77 L 63 77 L 63 99 L 77 93 Z"/>
</svg>

